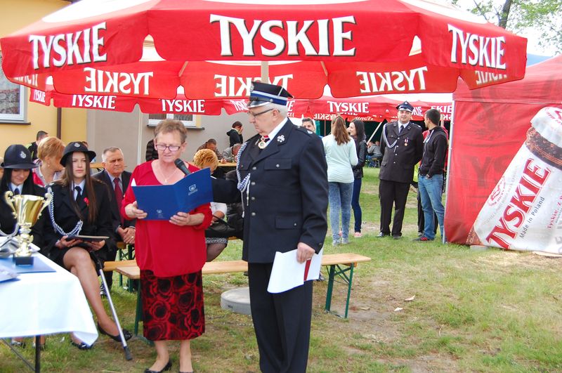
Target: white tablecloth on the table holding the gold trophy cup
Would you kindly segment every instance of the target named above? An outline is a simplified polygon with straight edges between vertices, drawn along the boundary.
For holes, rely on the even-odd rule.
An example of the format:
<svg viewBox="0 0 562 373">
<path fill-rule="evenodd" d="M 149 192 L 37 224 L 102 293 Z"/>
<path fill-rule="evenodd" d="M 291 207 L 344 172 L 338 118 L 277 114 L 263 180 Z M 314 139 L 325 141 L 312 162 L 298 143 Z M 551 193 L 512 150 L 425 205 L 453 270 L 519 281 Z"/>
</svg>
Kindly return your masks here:
<svg viewBox="0 0 562 373">
<path fill-rule="evenodd" d="M 55 272 L 20 273 L 19 280 L 0 282 L 0 338 L 74 332 L 91 345 L 98 330 L 78 277 L 33 256 Z"/>
</svg>

